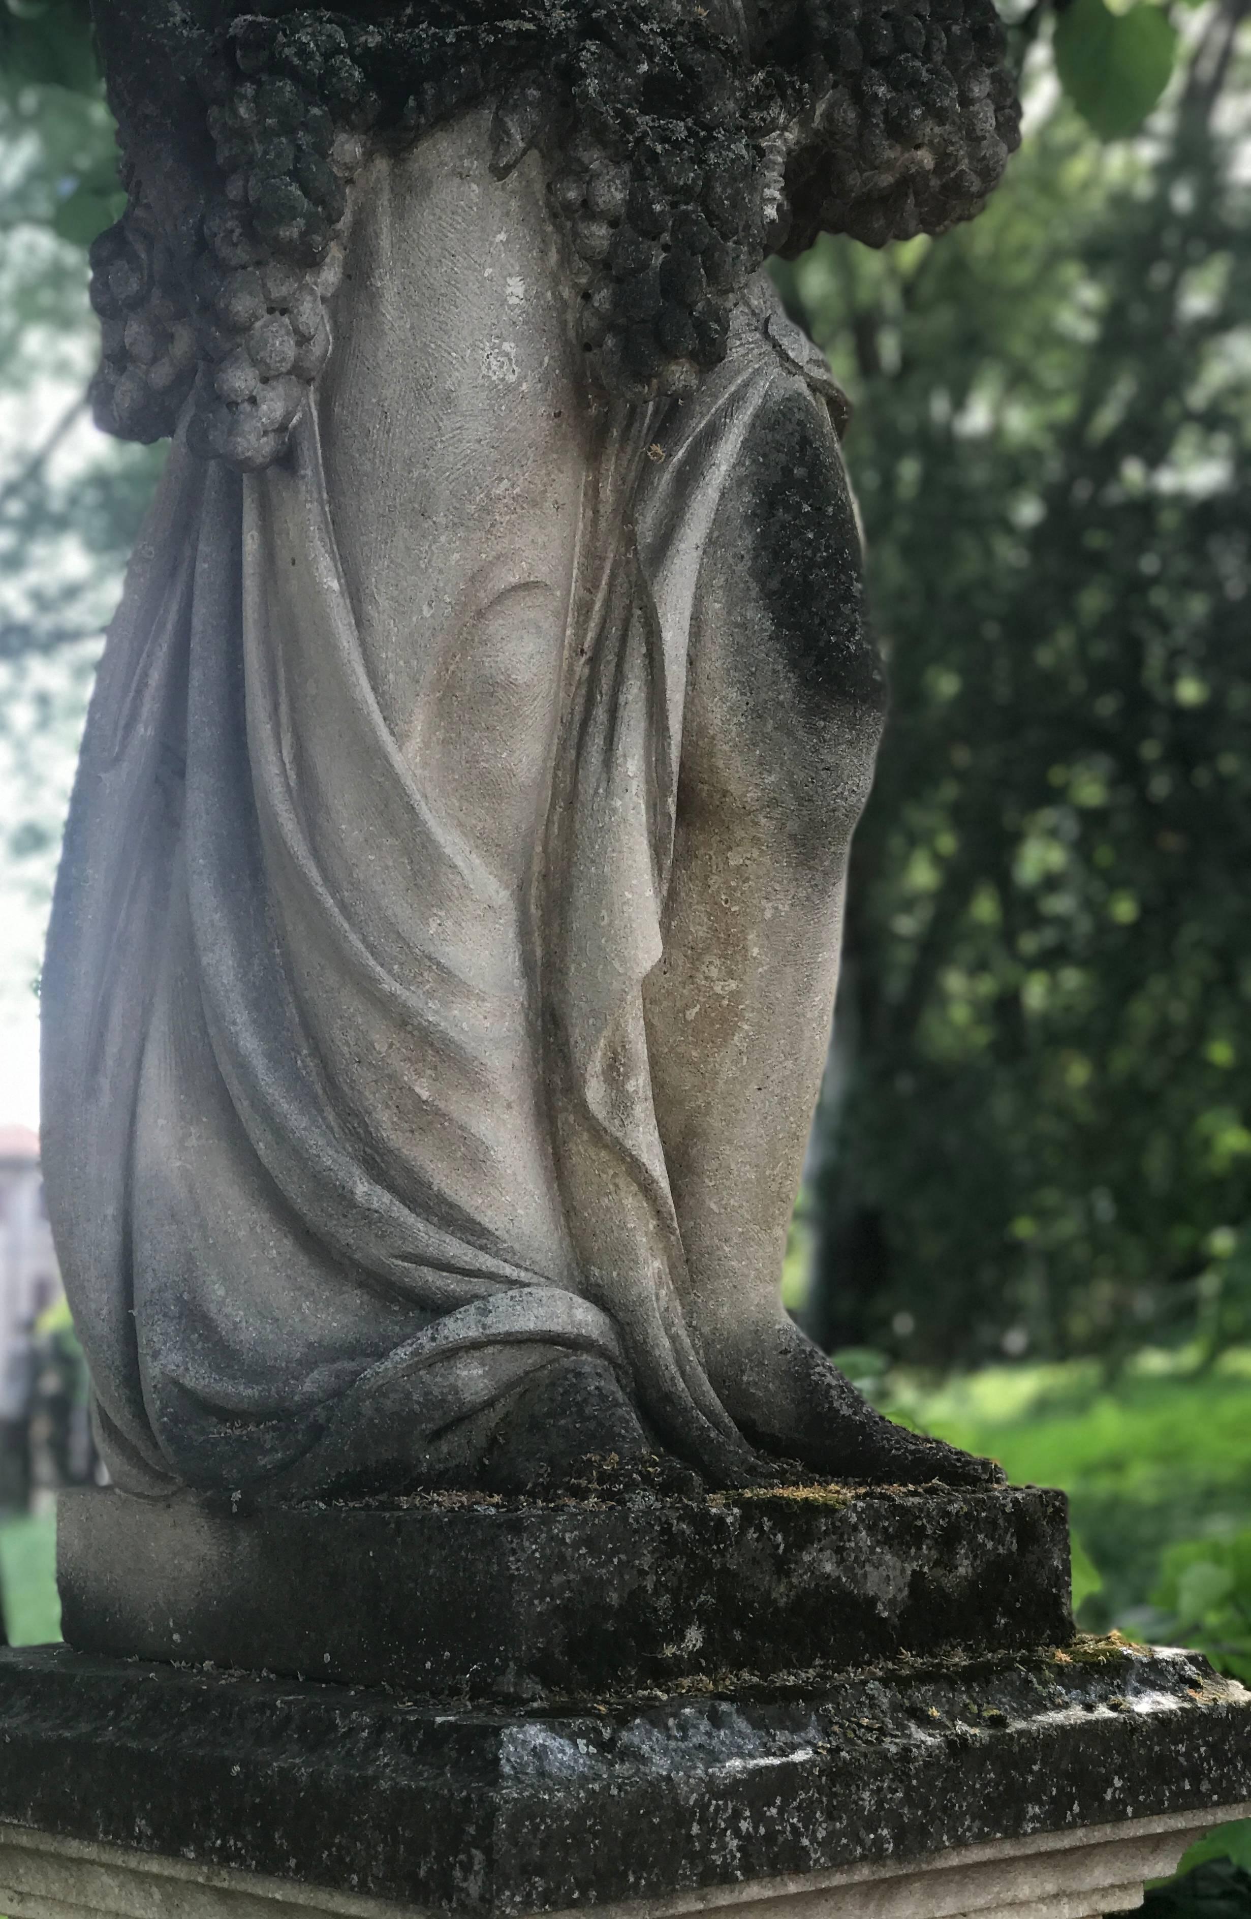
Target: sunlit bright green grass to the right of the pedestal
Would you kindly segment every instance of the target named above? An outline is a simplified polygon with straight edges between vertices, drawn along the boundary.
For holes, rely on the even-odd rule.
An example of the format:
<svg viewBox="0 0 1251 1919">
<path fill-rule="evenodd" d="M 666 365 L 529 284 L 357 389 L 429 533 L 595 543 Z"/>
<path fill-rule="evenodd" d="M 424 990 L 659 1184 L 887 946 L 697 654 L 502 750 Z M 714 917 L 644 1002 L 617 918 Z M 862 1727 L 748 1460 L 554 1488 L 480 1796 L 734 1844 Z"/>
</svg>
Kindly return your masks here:
<svg viewBox="0 0 1251 1919">
<path fill-rule="evenodd" d="M 1109 1389 L 1090 1361 L 988 1366 L 940 1389 L 881 1353 L 838 1355 L 909 1426 L 1002 1460 L 1017 1483 L 1061 1485 L 1073 1516 L 1078 1620 L 1186 1645 L 1220 1671 L 1251 1654 L 1251 1351 L 1207 1378 L 1193 1355 L 1144 1351 Z M 1251 1819 L 1190 1848 L 1145 1919 L 1249 1919 Z"/>
</svg>

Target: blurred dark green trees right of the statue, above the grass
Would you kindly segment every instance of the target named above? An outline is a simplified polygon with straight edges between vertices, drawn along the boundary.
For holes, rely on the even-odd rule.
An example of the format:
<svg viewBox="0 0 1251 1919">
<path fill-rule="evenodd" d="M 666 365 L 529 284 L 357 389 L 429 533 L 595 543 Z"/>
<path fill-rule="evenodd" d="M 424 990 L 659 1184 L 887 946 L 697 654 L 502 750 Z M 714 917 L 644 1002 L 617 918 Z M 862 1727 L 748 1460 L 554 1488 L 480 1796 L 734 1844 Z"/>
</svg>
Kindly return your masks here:
<svg viewBox="0 0 1251 1919">
<path fill-rule="evenodd" d="M 823 1100 L 825 1345 L 1251 1334 L 1251 106 L 1067 109 L 973 226 L 787 276 L 858 416 L 894 718 Z"/>
</svg>

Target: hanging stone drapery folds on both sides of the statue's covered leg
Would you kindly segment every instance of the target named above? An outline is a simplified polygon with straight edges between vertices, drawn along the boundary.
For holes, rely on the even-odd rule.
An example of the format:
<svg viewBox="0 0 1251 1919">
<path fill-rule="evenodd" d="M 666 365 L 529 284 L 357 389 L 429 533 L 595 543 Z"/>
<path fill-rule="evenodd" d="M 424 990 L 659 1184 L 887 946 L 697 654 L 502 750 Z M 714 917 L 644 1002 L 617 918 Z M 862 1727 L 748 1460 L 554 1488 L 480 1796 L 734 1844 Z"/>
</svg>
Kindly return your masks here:
<svg viewBox="0 0 1251 1919">
<path fill-rule="evenodd" d="M 501 1228 L 493 1031 L 522 988 L 476 935 L 508 902 L 384 720 L 317 420 L 248 480 L 175 447 L 44 975 L 48 1192 L 121 1485 L 403 1483 L 570 1351 L 714 1480 L 752 1474 L 681 1315 L 643 983 L 702 543 L 777 378 L 744 309 L 700 393 L 602 420 L 587 474 L 533 898 L 570 1270 Z"/>
</svg>

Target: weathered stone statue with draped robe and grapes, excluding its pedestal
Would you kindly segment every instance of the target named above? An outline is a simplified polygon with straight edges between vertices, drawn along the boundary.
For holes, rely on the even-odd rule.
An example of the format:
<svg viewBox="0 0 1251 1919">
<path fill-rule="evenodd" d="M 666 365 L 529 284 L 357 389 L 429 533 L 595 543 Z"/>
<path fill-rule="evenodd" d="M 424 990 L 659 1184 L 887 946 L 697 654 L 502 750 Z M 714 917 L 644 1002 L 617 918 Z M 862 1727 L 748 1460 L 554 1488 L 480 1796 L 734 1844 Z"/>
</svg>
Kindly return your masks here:
<svg viewBox="0 0 1251 1919">
<path fill-rule="evenodd" d="M 885 685 L 760 271 L 980 207 L 990 0 L 96 31 L 96 413 L 175 439 L 44 973 L 117 1485 L 994 1483 L 779 1303 Z"/>
</svg>

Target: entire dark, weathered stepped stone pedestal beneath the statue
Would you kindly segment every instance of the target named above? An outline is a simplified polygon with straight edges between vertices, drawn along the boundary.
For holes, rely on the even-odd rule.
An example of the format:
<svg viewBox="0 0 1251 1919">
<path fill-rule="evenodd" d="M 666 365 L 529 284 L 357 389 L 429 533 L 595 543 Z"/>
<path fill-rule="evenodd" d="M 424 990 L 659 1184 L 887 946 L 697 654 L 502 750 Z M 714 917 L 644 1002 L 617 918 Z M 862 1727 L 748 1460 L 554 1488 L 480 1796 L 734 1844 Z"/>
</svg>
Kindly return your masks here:
<svg viewBox="0 0 1251 1919">
<path fill-rule="evenodd" d="M 1122 1909 L 1251 1800 L 1251 1694 L 1073 1631 L 1063 1497 L 232 1512 L 67 1497 L 0 1652 L 0 1911 Z"/>
</svg>

